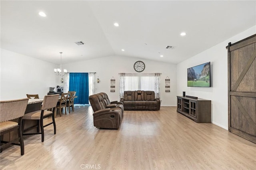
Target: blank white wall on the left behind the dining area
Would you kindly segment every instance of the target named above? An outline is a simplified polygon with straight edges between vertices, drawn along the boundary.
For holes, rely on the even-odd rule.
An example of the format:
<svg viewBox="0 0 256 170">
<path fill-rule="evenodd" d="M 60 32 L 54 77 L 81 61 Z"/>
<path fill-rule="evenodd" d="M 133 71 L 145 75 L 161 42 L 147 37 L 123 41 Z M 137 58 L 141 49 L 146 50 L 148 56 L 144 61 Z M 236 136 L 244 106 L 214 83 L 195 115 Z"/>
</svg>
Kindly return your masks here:
<svg viewBox="0 0 256 170">
<path fill-rule="evenodd" d="M 26 94 L 47 95 L 57 85 L 57 65 L 1 49 L 0 100 L 26 98 Z"/>
</svg>

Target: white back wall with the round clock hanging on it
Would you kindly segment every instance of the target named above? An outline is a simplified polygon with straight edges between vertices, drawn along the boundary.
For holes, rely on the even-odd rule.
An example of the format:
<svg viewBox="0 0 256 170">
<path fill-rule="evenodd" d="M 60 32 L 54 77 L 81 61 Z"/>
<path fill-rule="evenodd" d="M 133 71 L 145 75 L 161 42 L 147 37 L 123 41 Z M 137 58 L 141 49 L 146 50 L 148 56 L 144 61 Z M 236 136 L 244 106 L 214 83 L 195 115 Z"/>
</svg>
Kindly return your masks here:
<svg viewBox="0 0 256 170">
<path fill-rule="evenodd" d="M 96 90 L 94 93 L 105 92 L 110 100 L 120 100 L 119 98 L 119 75 L 118 73 L 137 73 L 133 69 L 136 61 L 141 60 L 146 67 L 142 73 L 162 73 L 161 75 L 161 106 L 176 106 L 176 64 L 151 61 L 140 58 L 130 58 L 124 56 L 110 56 L 98 59 L 91 59 L 63 65 L 63 68 L 69 72 L 96 72 L 96 79 L 100 79 L 100 83 L 95 83 Z M 171 92 L 165 92 L 166 77 L 171 80 Z M 110 79 L 116 79 L 116 92 L 110 92 Z"/>
</svg>

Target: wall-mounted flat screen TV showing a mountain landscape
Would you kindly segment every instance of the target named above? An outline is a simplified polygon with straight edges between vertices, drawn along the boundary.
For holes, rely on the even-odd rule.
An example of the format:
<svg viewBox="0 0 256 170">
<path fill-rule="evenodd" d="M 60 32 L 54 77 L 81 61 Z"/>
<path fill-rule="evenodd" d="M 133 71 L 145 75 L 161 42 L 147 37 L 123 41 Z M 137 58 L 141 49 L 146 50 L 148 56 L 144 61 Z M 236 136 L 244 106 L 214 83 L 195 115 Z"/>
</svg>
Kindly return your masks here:
<svg viewBox="0 0 256 170">
<path fill-rule="evenodd" d="M 210 62 L 188 68 L 188 87 L 211 87 Z"/>
</svg>

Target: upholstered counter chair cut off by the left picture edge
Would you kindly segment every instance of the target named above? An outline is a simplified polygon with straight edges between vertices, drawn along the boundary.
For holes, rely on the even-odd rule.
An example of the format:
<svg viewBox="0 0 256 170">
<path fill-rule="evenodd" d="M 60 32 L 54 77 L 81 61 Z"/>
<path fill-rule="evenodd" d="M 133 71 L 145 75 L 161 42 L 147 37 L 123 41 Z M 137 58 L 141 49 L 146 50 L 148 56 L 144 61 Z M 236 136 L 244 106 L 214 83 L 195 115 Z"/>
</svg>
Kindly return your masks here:
<svg viewBox="0 0 256 170">
<path fill-rule="evenodd" d="M 0 101 L 0 136 L 1 146 L 0 152 L 10 144 L 20 146 L 20 154 L 24 155 L 24 142 L 22 136 L 22 117 L 26 111 L 28 98 Z M 13 119 L 18 118 L 18 123 Z M 10 139 L 11 141 L 2 140 L 2 135 L 11 131 L 18 131 L 18 138 Z"/>
</svg>

